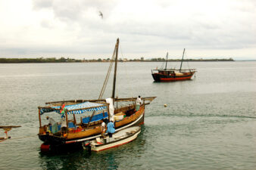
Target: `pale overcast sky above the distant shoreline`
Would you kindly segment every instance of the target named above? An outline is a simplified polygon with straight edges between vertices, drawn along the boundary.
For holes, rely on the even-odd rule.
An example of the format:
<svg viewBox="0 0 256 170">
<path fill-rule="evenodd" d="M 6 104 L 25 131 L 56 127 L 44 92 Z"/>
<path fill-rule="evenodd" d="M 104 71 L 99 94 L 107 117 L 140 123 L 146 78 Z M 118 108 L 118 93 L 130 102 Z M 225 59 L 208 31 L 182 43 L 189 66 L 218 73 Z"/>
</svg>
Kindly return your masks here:
<svg viewBox="0 0 256 170">
<path fill-rule="evenodd" d="M 99 16 L 101 11 L 103 18 Z M 0 57 L 256 59 L 255 0 L 0 0 Z"/>
</svg>

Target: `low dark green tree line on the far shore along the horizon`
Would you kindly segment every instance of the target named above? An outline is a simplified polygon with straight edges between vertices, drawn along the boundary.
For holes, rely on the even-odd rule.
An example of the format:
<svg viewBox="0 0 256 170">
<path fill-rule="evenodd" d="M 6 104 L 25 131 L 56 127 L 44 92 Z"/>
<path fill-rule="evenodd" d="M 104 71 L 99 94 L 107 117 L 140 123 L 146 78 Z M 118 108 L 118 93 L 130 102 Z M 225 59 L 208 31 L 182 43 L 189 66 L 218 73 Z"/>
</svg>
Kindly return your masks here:
<svg viewBox="0 0 256 170">
<path fill-rule="evenodd" d="M 158 58 L 151 58 L 151 59 L 144 59 L 144 57 L 141 57 L 140 59 L 126 59 L 126 58 L 120 58 L 120 62 L 130 62 L 130 61 L 142 61 L 142 62 L 155 62 L 155 61 L 165 61 L 166 59 L 158 57 Z M 0 63 L 82 63 L 82 62 L 110 62 L 111 59 L 91 59 L 86 60 L 85 58 L 83 60 L 76 60 L 72 58 L 56 58 L 56 57 L 40 57 L 40 58 L 0 58 Z M 168 59 L 168 61 L 181 61 L 180 59 Z M 184 59 L 184 61 L 234 61 L 233 58 L 222 58 L 222 59 Z"/>
</svg>

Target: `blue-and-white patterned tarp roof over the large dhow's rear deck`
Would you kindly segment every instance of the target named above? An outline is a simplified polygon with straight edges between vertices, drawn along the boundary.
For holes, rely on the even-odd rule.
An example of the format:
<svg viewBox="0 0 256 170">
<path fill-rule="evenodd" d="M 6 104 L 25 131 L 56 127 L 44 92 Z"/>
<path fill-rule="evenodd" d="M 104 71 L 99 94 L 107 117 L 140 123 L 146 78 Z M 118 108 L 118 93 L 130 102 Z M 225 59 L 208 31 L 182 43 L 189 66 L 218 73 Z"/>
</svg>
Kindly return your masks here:
<svg viewBox="0 0 256 170">
<path fill-rule="evenodd" d="M 60 106 L 59 107 L 45 107 L 40 109 L 40 114 L 48 113 L 48 112 L 56 112 L 60 113 Z M 92 103 L 89 101 L 86 101 L 81 104 L 73 104 L 73 105 L 67 105 L 64 107 L 65 110 L 67 110 L 67 114 L 82 114 L 90 111 L 99 111 L 106 109 L 107 106 L 105 104 L 97 104 Z"/>
</svg>

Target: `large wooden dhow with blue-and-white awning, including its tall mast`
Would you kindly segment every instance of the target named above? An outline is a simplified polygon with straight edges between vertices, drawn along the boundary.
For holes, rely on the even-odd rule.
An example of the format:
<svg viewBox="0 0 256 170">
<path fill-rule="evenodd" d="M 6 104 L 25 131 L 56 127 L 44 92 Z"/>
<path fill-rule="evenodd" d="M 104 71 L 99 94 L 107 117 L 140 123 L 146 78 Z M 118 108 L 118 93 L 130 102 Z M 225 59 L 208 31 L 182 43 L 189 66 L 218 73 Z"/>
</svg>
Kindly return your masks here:
<svg viewBox="0 0 256 170">
<path fill-rule="evenodd" d="M 144 123 L 145 105 L 150 104 L 155 97 L 142 97 L 142 106 L 138 111 L 135 110 L 136 98 L 118 98 L 115 97 L 116 75 L 117 75 L 117 57 L 118 57 L 119 39 L 114 48 L 108 73 L 101 88 L 98 100 L 66 100 L 55 101 L 46 103 L 45 107 L 39 108 L 39 139 L 44 141 L 43 147 L 48 145 L 65 145 L 65 144 L 77 144 L 86 140 L 92 140 L 98 138 L 101 135 L 101 120 L 108 119 L 118 120 L 115 122 L 116 131 L 120 131 L 123 128 L 127 128 L 133 125 L 142 125 Z M 108 78 L 111 73 L 111 68 L 114 63 L 114 79 L 111 98 L 102 99 L 105 92 Z M 145 103 L 145 101 L 149 101 Z M 126 102 L 129 102 L 127 104 Z M 130 104 L 130 102 L 132 104 Z M 123 107 L 123 104 L 126 104 Z M 118 106 L 119 107 L 118 107 Z M 116 107 L 115 107 L 116 106 Z M 120 107 L 121 106 L 121 107 Z M 115 107 L 115 108 L 114 108 Z M 107 115 L 105 111 L 107 110 Z M 113 113 L 114 110 L 114 113 Z M 53 125 L 42 125 L 41 116 L 44 113 L 55 112 L 61 114 L 61 122 L 51 123 Z M 80 122 L 76 121 L 76 114 L 82 114 L 86 112 L 92 112 L 91 116 L 80 116 Z M 102 112 L 102 113 L 100 113 Z M 113 114 L 117 114 L 113 117 Z M 68 118 L 68 115 L 73 115 L 73 120 Z M 106 117 L 108 116 L 108 118 Z M 46 117 L 46 119 L 49 119 Z M 64 121 L 66 119 L 66 121 Z M 49 121 L 50 122 L 50 121 Z M 66 122 L 66 123 L 64 123 Z M 56 129 L 56 124 L 57 128 Z M 59 130 L 61 125 L 67 125 L 66 128 Z M 70 125 L 69 125 L 70 124 Z M 52 128 L 52 129 L 51 129 Z M 61 127 L 60 127 L 61 128 Z"/>
</svg>

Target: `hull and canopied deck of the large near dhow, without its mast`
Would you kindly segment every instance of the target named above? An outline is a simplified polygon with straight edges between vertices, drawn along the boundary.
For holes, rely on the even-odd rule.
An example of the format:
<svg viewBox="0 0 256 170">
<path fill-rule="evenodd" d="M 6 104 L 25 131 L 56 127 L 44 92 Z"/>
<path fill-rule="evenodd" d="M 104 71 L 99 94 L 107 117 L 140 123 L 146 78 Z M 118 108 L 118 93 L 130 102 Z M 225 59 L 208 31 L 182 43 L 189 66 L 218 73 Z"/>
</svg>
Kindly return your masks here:
<svg viewBox="0 0 256 170">
<path fill-rule="evenodd" d="M 136 110 L 136 98 L 115 98 L 114 113 L 111 117 L 109 104 L 105 100 L 71 100 L 52 102 L 47 107 L 39 108 L 39 139 L 49 144 L 68 144 L 86 141 L 101 134 L 101 120 L 114 119 L 115 128 L 126 128 L 144 123 L 145 105 L 155 97 L 142 97 L 143 104 Z M 149 100 L 145 103 L 145 100 Z M 127 104 L 130 103 L 130 104 Z M 124 103 L 124 105 L 123 105 Z M 64 107 L 63 107 L 64 104 Z M 61 110 L 64 110 L 61 112 Z M 52 114 L 55 113 L 55 114 Z M 55 115 L 55 116 L 54 116 Z M 58 120 L 51 125 L 46 116 Z M 43 118 L 42 118 L 43 117 Z M 61 131 L 61 118 L 65 117 L 67 131 Z M 45 123 L 42 123 L 45 122 Z"/>
</svg>

